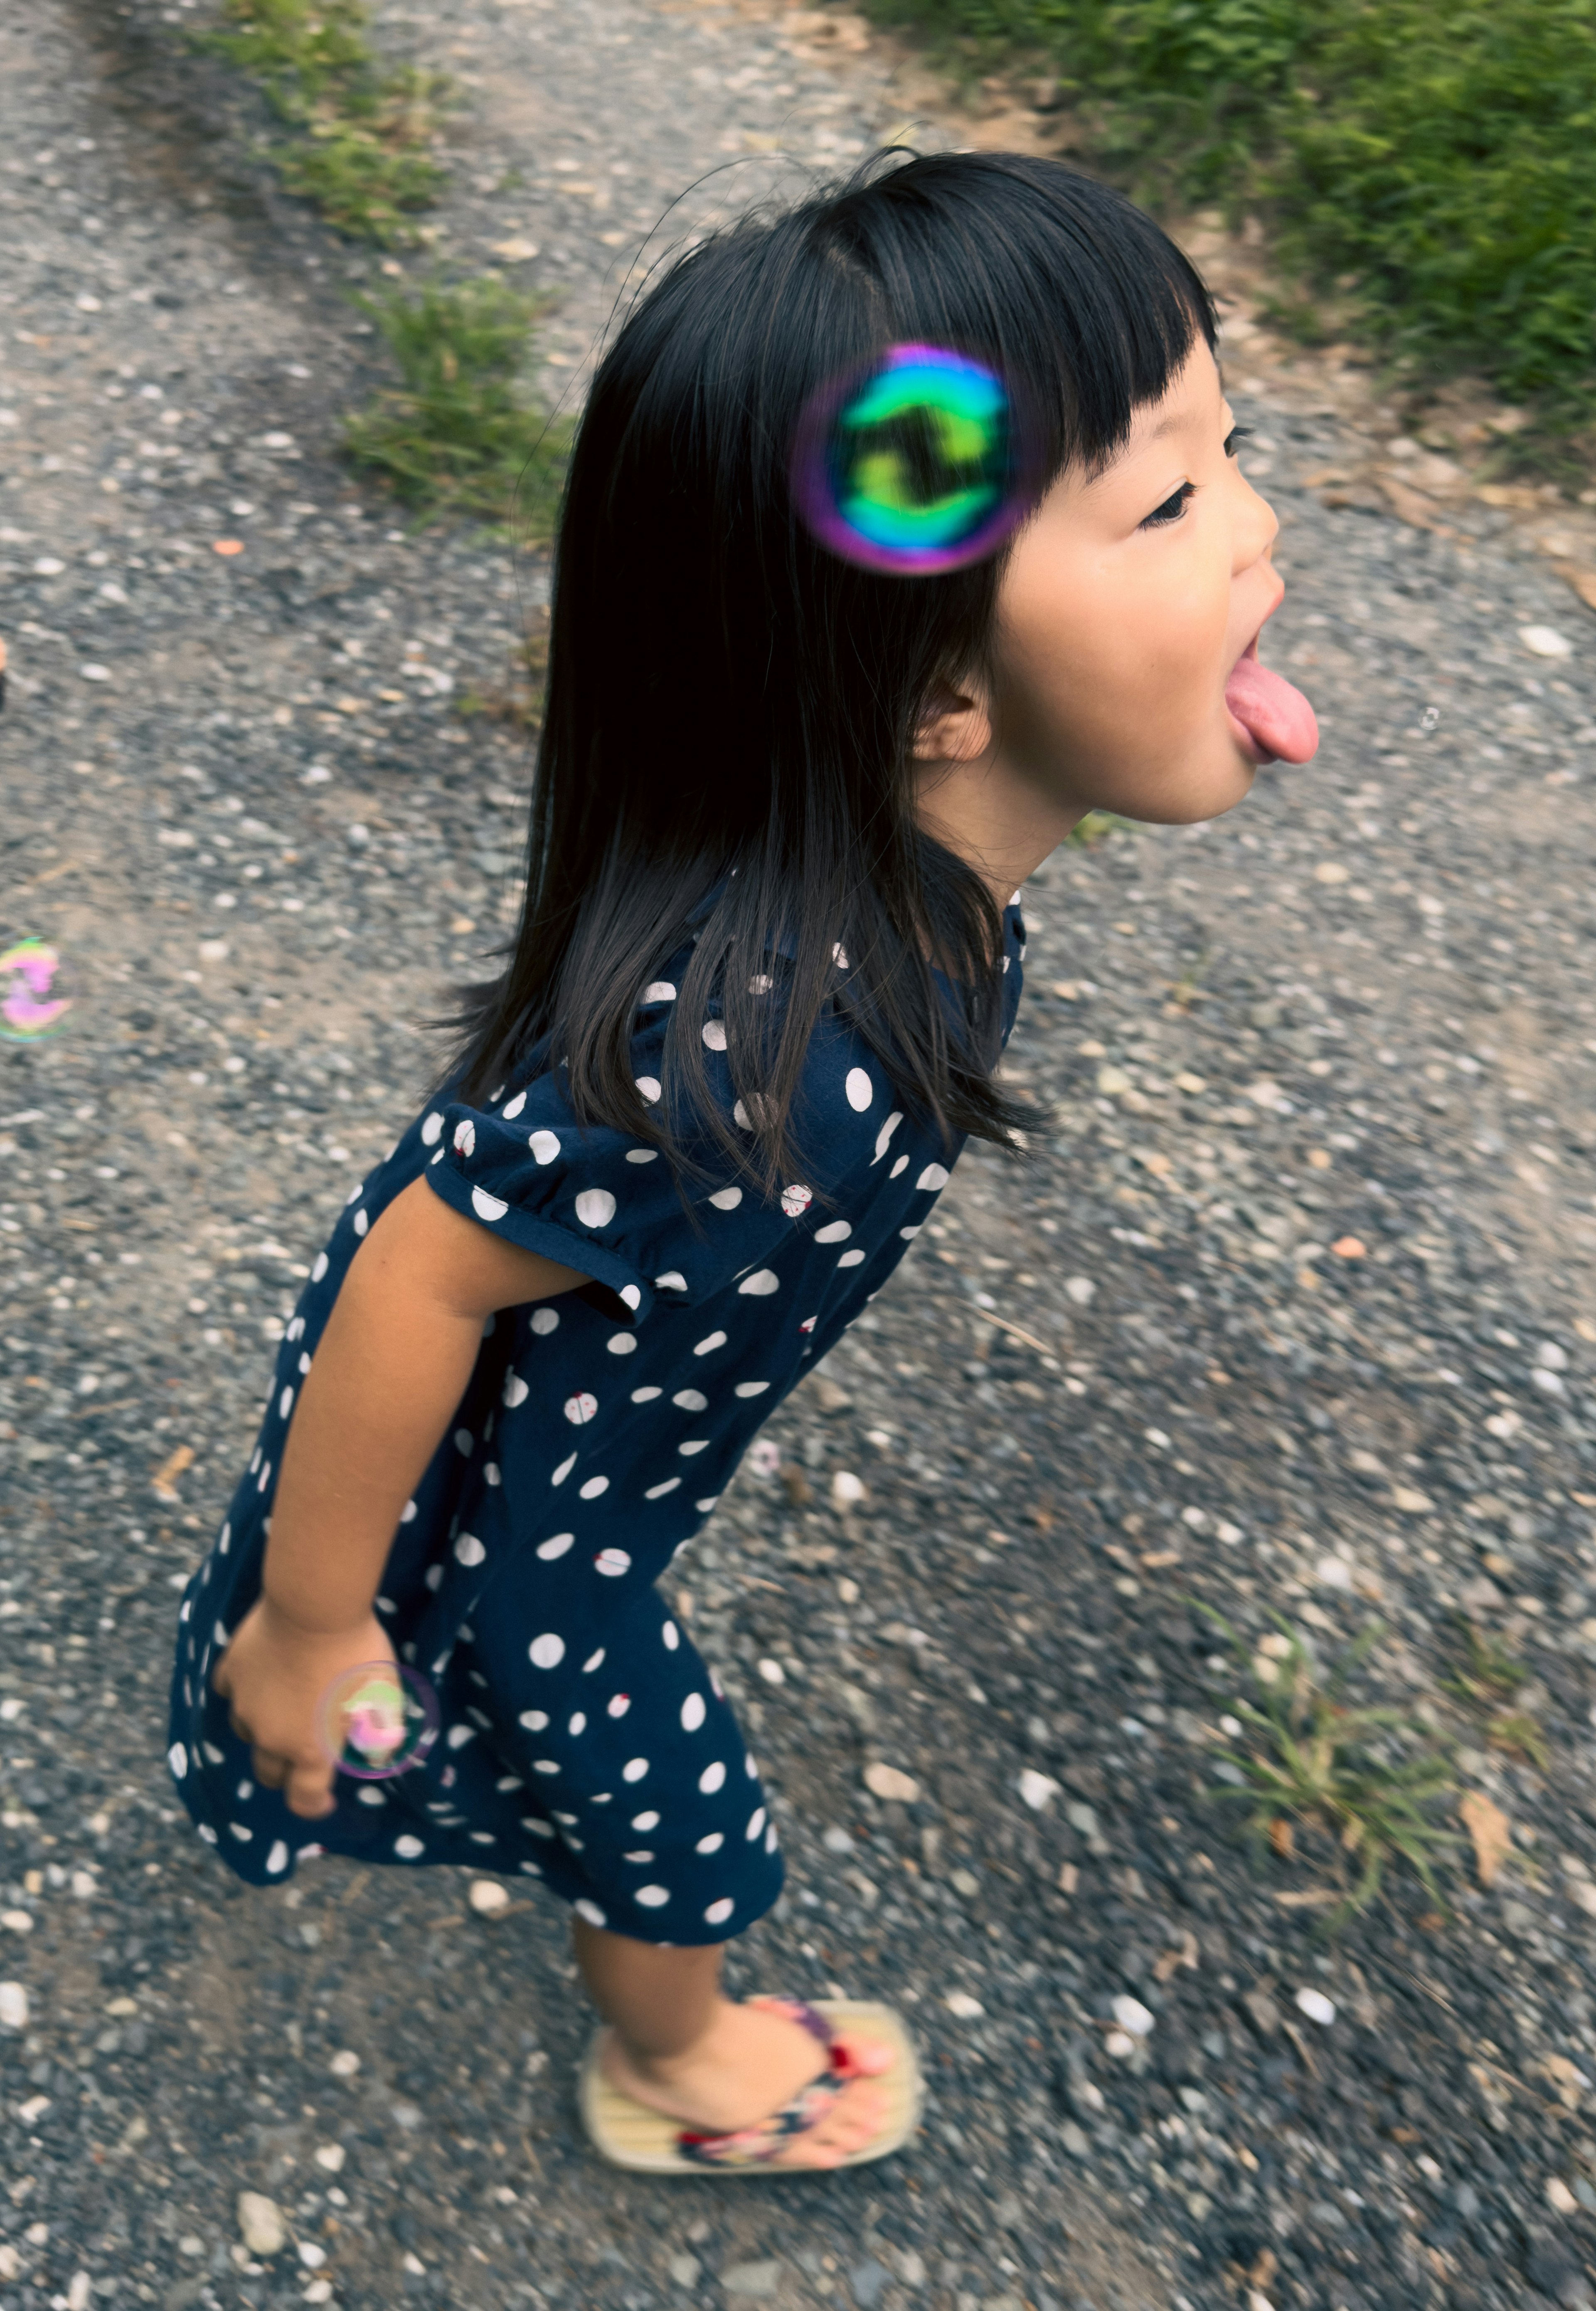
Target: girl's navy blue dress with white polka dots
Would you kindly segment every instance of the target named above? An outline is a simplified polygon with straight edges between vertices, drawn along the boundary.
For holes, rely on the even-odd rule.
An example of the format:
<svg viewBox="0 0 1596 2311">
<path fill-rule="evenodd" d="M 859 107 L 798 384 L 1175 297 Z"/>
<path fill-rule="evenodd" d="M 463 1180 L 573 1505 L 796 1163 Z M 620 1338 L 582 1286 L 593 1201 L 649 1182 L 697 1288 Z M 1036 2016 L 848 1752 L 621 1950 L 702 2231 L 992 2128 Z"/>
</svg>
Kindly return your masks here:
<svg viewBox="0 0 1596 2311">
<path fill-rule="evenodd" d="M 1005 1042 L 1021 938 L 1016 894 Z M 647 1100 L 672 1003 L 670 978 L 642 994 L 633 1068 Z M 702 1038 L 730 1109 L 716 1012 Z M 543 1879 L 594 1925 L 656 1944 L 725 1941 L 771 1907 L 781 1853 L 753 1759 L 654 1583 L 760 1424 L 892 1276 L 949 1162 L 838 1010 L 811 1040 L 795 1123 L 818 1151 L 811 1179 L 769 1199 L 702 1181 L 684 1209 L 654 1149 L 577 1125 L 545 1072 L 485 1107 L 430 1107 L 356 1188 L 180 1608 L 169 1766 L 238 1877 L 282 1883 L 312 1853 L 467 1863 Z M 305 1821 L 249 1779 L 210 1673 L 261 1590 L 277 1465 L 340 1283 L 418 1174 L 480 1227 L 594 1283 L 485 1327 L 453 1431 L 400 1518 L 376 1613 L 432 1682 L 441 1740 L 395 1779 L 337 1775 L 337 1812 Z"/>
</svg>

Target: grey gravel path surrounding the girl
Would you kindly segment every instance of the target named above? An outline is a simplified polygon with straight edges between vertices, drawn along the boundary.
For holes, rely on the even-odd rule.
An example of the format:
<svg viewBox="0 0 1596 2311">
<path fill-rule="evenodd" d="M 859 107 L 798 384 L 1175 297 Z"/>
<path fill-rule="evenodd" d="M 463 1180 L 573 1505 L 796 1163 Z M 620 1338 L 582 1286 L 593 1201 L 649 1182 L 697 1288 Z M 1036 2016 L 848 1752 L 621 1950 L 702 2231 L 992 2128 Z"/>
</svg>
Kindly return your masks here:
<svg viewBox="0 0 1596 2311">
<path fill-rule="evenodd" d="M 173 1590 L 504 904 L 524 753 L 462 703 L 540 592 L 333 462 L 365 261 L 270 194 L 182 21 L 0 21 L 0 934 L 74 998 L 0 1049 L 0 2306 L 1591 2304 L 1591 624 L 1501 515 L 1326 506 L 1367 414 L 1323 377 L 1240 395 L 1319 763 L 1037 874 L 1012 1072 L 1056 1123 L 965 1160 L 686 1562 L 790 1856 L 739 1974 L 908 2006 L 912 2156 L 619 2184 L 547 1909 L 254 1895 L 180 1835 Z M 383 37 L 467 83 L 443 247 L 538 247 L 504 261 L 564 296 L 550 384 L 707 166 L 751 155 L 741 199 L 919 102 L 760 7 Z M 1254 1858 L 1203 1796 L 1245 1680 L 1192 1599 L 1250 1648 L 1379 1618 L 1367 1689 L 1511 1823 L 1494 1886 L 1462 1842 L 1450 1916 L 1395 1879 L 1317 1941 L 1335 1858 Z M 1543 1766 L 1448 1696 L 1457 1613 Z"/>
</svg>

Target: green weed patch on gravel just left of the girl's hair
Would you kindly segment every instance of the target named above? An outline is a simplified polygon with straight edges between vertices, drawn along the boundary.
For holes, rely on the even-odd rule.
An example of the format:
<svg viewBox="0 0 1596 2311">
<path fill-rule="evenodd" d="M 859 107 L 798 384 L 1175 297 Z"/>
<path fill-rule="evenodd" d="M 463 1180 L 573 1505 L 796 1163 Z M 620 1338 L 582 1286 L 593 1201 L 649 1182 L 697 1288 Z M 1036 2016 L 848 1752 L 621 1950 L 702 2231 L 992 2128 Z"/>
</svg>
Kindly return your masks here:
<svg viewBox="0 0 1596 2311">
<path fill-rule="evenodd" d="M 420 515 L 453 511 L 547 536 L 570 425 L 522 391 L 543 300 L 487 275 L 358 303 L 402 381 L 344 421 L 344 455 Z"/>
</svg>

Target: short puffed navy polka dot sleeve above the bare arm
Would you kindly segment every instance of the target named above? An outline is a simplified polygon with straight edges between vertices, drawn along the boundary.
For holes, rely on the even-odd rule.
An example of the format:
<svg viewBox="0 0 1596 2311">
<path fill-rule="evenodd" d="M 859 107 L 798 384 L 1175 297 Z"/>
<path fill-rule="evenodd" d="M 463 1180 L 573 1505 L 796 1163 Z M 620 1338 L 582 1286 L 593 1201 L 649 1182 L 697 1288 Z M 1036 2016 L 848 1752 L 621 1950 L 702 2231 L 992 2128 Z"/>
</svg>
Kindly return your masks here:
<svg viewBox="0 0 1596 2311">
<path fill-rule="evenodd" d="M 663 1021 L 633 1042 L 644 1100 L 658 1098 Z M 728 1102 L 730 1105 L 730 1102 Z M 607 1285 L 635 1322 L 656 1299 L 693 1306 L 769 1257 L 790 1213 L 718 1165 L 679 1183 L 658 1149 L 577 1123 L 561 1079 L 540 1075 L 499 1102 L 443 1100 L 420 1123 L 437 1195 L 497 1236 Z M 702 1149 L 695 1149 L 702 1153 Z"/>
</svg>

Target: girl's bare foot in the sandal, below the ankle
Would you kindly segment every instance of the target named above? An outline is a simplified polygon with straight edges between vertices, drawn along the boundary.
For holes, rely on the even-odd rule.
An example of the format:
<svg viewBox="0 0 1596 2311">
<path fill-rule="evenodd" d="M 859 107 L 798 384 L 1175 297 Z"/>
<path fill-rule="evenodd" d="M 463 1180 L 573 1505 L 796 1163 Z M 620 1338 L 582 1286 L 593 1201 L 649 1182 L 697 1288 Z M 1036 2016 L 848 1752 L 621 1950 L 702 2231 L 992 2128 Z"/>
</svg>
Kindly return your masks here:
<svg viewBox="0 0 1596 2311">
<path fill-rule="evenodd" d="M 795 2135 L 767 2165 L 831 2168 L 864 2149 L 880 2128 L 887 2094 L 875 2080 L 892 2068 L 892 2048 L 875 2038 L 838 2038 L 845 2068 L 857 2073 L 822 2119 Z M 829 2052 L 778 2006 L 718 1999 L 709 2029 L 686 2052 L 635 2054 L 605 2031 L 601 2068 L 612 2087 L 647 2110 L 698 2133 L 758 2128 L 811 2080 L 834 2068 Z"/>
</svg>

